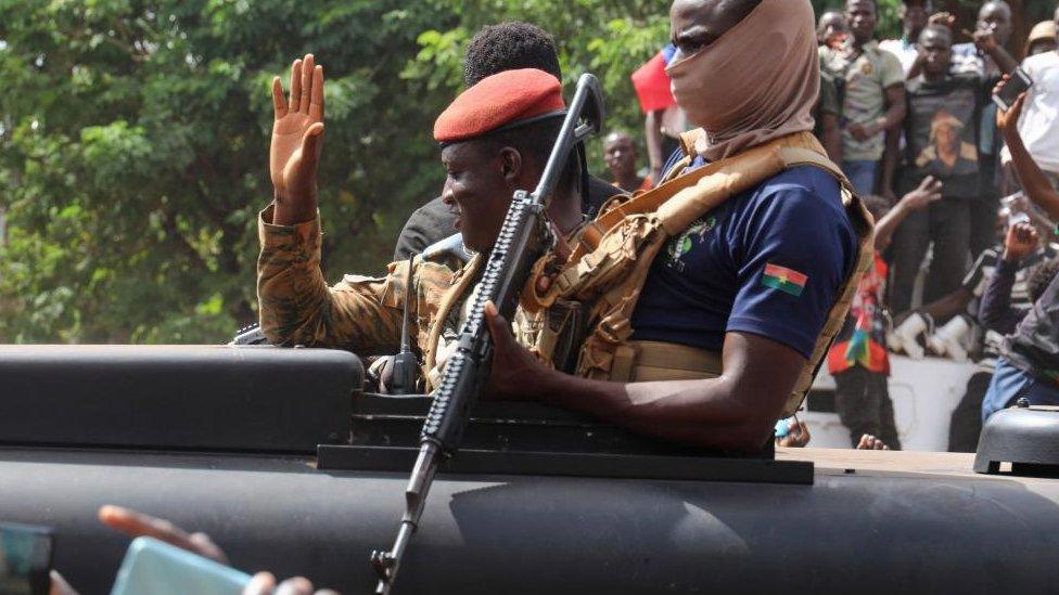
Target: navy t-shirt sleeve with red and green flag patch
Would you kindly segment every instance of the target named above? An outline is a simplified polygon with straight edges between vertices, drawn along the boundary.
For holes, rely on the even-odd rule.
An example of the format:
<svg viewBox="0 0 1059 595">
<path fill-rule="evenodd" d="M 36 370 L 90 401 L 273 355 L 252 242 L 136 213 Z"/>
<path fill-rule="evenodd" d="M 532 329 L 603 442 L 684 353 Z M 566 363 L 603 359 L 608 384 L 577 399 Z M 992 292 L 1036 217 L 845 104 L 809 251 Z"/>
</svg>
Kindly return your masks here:
<svg viewBox="0 0 1059 595">
<path fill-rule="evenodd" d="M 730 228 L 739 292 L 727 332 L 762 335 L 811 358 L 852 267 L 856 236 L 833 197 L 804 185 L 766 187 L 756 208 Z"/>
</svg>

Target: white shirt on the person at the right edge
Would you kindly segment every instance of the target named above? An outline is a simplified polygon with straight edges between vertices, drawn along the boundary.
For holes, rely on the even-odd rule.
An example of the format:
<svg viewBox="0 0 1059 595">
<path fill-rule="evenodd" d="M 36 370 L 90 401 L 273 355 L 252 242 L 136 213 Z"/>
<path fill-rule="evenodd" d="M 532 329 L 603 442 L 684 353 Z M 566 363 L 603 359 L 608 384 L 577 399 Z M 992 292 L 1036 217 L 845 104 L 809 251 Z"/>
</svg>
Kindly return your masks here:
<svg viewBox="0 0 1059 595">
<path fill-rule="evenodd" d="M 1019 135 L 1041 169 L 1059 174 L 1059 52 L 1031 55 L 1022 69 L 1033 79 L 1019 119 Z M 1004 150 L 1004 161 L 1011 155 Z"/>
</svg>

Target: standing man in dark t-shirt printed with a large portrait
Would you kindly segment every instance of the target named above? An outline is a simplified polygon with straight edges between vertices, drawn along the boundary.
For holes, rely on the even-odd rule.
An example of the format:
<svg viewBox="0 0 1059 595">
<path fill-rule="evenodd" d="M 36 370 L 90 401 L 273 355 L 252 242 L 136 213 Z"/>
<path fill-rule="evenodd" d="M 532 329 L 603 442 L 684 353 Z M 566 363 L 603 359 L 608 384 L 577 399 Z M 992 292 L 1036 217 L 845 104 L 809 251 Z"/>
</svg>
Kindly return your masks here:
<svg viewBox="0 0 1059 595">
<path fill-rule="evenodd" d="M 981 195 L 975 122 L 991 88 L 975 74 L 950 73 L 952 31 L 947 27 L 928 26 L 920 35 L 919 46 L 921 55 L 914 69 L 921 69 L 922 74 L 908 82 L 904 167 L 898 186 L 910 190 L 930 176 L 944 184 L 944 198 L 909 217 L 896 232 L 890 300 L 895 312 L 911 306 L 913 285 L 931 244 L 933 259 L 923 301 L 949 294 L 964 277 L 972 203 Z M 991 48 L 997 54 L 1003 52 L 995 43 Z M 890 176 L 897 156 L 892 144 L 888 148 L 885 169 Z M 995 220 L 996 209 L 991 221 Z"/>
</svg>

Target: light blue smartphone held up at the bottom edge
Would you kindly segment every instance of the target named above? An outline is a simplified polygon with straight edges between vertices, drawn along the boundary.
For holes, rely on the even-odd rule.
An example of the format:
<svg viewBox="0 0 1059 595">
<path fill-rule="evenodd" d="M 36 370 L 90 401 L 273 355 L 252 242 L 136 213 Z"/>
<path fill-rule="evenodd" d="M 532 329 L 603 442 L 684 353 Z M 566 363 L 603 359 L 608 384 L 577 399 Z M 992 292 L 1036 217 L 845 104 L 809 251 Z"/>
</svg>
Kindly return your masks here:
<svg viewBox="0 0 1059 595">
<path fill-rule="evenodd" d="M 153 538 L 132 540 L 111 595 L 239 595 L 251 575 Z"/>
</svg>

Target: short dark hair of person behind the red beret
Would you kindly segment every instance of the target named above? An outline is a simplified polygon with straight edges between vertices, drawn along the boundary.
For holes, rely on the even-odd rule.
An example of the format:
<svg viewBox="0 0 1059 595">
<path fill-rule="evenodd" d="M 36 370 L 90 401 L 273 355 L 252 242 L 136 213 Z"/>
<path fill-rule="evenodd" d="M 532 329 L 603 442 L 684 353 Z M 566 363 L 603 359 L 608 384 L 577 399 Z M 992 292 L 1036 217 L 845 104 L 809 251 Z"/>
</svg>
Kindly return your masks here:
<svg viewBox="0 0 1059 595">
<path fill-rule="evenodd" d="M 473 87 L 485 77 L 519 68 L 537 68 L 562 80 L 556 40 L 530 23 L 486 25 L 467 47 L 463 81 Z"/>
</svg>

